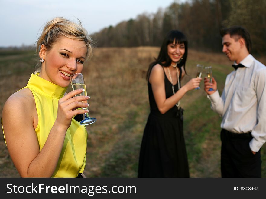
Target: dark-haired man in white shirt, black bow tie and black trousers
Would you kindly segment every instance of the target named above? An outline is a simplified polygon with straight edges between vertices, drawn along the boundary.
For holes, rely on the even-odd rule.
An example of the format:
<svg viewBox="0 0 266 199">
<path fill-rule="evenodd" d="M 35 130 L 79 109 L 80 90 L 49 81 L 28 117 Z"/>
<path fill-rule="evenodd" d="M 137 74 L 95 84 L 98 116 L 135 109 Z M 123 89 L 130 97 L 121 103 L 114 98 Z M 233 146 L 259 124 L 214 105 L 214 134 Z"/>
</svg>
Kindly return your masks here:
<svg viewBox="0 0 266 199">
<path fill-rule="evenodd" d="M 222 116 L 222 177 L 261 177 L 260 149 L 266 140 L 266 67 L 251 54 L 248 31 L 221 30 L 222 52 L 235 68 L 220 97 L 217 83 L 204 79 L 211 108 Z M 241 65 L 238 65 L 241 64 Z M 214 91 L 208 91 L 213 88 Z"/>
</svg>

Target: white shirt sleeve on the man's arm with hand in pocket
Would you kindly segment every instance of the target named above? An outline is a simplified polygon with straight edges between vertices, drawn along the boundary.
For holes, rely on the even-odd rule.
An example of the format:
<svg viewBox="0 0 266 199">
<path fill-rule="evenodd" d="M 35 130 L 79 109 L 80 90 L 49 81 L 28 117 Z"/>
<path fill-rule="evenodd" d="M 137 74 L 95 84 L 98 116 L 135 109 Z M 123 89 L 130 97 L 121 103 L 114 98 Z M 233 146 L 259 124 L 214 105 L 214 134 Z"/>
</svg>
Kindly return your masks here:
<svg viewBox="0 0 266 199">
<path fill-rule="evenodd" d="M 266 68 L 257 71 L 254 79 L 254 87 L 258 99 L 257 124 L 251 131 L 252 140 L 249 147 L 258 152 L 266 141 Z"/>
</svg>

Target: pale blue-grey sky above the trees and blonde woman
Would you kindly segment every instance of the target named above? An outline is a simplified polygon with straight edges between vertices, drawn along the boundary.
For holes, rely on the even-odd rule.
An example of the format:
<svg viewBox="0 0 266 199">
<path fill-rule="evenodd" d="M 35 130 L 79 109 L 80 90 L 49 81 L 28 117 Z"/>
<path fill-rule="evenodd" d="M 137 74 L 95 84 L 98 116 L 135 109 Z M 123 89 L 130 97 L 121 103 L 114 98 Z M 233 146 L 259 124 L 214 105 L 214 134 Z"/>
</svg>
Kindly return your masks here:
<svg viewBox="0 0 266 199">
<path fill-rule="evenodd" d="M 44 24 L 57 16 L 78 18 L 92 34 L 175 1 L 186 0 L 0 0 L 0 47 L 34 45 Z"/>
</svg>

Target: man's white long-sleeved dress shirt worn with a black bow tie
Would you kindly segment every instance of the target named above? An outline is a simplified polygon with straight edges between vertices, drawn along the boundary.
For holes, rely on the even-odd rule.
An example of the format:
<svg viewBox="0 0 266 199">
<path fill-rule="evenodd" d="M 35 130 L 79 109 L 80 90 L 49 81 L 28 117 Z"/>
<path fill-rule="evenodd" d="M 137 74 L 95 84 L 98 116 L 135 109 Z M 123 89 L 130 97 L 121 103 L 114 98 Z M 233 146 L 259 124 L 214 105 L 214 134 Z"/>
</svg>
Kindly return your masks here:
<svg viewBox="0 0 266 199">
<path fill-rule="evenodd" d="M 217 90 L 207 97 L 212 110 L 222 116 L 221 128 L 251 131 L 249 147 L 258 152 L 266 141 L 266 67 L 250 54 L 240 63 L 245 67 L 227 75 L 222 96 Z"/>
</svg>

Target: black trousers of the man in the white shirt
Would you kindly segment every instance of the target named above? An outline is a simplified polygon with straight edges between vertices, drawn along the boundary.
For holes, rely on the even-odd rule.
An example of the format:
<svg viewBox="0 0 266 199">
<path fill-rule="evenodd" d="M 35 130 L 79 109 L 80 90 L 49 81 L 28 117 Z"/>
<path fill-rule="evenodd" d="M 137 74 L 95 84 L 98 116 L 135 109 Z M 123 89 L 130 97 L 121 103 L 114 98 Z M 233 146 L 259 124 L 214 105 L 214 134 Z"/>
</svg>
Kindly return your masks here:
<svg viewBox="0 0 266 199">
<path fill-rule="evenodd" d="M 251 132 L 236 134 L 222 129 L 222 177 L 261 177 L 261 150 L 252 153 L 251 139 Z"/>
</svg>

